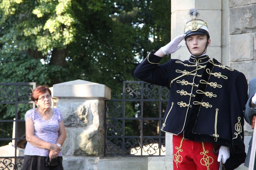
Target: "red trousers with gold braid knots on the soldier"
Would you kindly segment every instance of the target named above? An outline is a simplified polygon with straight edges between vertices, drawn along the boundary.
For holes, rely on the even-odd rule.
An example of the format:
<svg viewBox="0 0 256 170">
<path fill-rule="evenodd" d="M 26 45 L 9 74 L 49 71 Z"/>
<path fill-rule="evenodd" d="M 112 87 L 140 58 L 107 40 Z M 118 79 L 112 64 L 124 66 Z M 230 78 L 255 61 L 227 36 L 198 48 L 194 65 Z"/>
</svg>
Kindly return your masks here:
<svg viewBox="0 0 256 170">
<path fill-rule="evenodd" d="M 173 170 L 218 170 L 218 154 L 214 154 L 213 143 L 194 142 L 173 135 Z"/>
</svg>

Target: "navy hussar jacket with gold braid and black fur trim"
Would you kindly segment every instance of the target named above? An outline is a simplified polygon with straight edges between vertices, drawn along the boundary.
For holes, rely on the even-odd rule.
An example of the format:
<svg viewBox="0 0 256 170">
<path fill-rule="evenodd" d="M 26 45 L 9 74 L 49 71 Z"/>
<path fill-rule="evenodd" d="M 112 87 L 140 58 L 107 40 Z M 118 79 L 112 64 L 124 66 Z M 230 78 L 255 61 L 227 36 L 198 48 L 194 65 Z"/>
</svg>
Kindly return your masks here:
<svg viewBox="0 0 256 170">
<path fill-rule="evenodd" d="M 161 59 L 149 53 L 134 72 L 140 80 L 170 89 L 161 130 L 229 147 L 226 169 L 244 163 L 243 110 L 248 99 L 244 74 L 208 56 L 158 65 Z"/>
</svg>

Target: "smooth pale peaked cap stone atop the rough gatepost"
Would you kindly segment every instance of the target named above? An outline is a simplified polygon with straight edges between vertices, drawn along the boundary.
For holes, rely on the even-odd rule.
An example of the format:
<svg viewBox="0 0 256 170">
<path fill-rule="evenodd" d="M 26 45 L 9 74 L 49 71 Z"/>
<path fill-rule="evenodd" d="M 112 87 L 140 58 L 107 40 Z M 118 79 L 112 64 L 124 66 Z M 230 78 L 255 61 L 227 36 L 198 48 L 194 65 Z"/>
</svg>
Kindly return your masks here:
<svg viewBox="0 0 256 170">
<path fill-rule="evenodd" d="M 111 98 L 111 89 L 104 84 L 85 80 L 74 80 L 54 84 L 52 94 L 54 97 L 86 97 L 86 98 Z"/>
</svg>

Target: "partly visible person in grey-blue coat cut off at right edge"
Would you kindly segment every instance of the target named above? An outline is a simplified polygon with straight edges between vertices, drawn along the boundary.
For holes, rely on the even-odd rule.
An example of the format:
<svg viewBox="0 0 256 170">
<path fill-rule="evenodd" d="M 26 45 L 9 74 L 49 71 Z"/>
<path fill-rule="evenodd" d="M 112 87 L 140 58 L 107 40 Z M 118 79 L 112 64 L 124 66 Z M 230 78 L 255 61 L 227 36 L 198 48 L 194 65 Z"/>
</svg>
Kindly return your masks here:
<svg viewBox="0 0 256 170">
<path fill-rule="evenodd" d="M 249 82 L 249 99 L 246 103 L 244 110 L 244 119 L 250 125 L 252 124 L 253 116 L 256 114 L 256 77 L 252 78 Z M 254 128 L 254 130 L 256 130 Z M 247 156 L 244 162 L 244 166 L 249 167 L 250 156 L 252 150 L 253 136 L 249 142 L 249 148 L 247 152 Z M 254 170 L 256 170 L 256 161 L 254 160 Z"/>
</svg>

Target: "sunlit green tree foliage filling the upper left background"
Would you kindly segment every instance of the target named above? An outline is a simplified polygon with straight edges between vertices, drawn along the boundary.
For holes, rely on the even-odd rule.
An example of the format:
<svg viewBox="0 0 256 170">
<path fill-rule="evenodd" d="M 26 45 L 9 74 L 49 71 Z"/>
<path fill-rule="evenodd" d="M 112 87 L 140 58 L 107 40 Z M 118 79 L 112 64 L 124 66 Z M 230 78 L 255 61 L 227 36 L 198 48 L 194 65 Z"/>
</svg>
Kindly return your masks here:
<svg viewBox="0 0 256 170">
<path fill-rule="evenodd" d="M 82 79 L 109 86 L 113 97 L 134 80 L 138 61 L 170 39 L 169 0 L 2 0 L 0 17 L 1 65 L 23 61 L 2 82 Z"/>
</svg>

